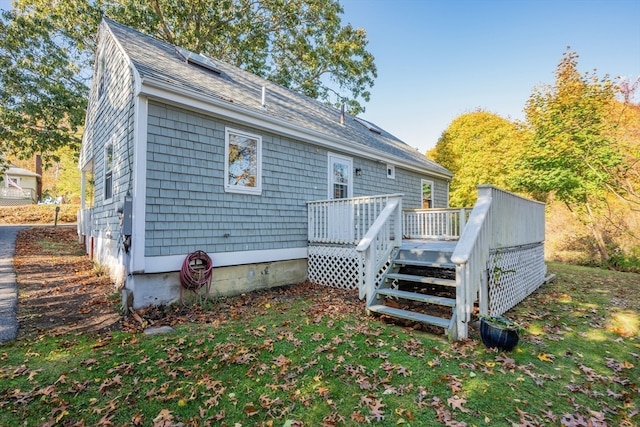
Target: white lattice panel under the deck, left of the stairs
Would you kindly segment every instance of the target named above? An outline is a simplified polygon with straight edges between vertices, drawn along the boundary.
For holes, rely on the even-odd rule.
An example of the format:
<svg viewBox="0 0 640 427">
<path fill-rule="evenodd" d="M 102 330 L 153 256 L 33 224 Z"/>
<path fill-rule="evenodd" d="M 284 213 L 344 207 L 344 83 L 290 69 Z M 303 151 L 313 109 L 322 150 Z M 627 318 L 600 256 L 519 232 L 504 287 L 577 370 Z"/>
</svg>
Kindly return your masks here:
<svg viewBox="0 0 640 427">
<path fill-rule="evenodd" d="M 339 289 L 359 289 L 362 257 L 355 247 L 309 246 L 309 280 Z"/>
</svg>

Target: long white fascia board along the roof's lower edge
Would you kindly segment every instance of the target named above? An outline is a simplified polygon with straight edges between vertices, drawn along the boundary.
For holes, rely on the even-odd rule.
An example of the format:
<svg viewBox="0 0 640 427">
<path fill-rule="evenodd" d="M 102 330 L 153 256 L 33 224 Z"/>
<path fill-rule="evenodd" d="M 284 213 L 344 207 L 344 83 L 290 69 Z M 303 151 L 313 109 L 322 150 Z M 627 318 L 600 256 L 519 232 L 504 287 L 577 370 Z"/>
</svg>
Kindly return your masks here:
<svg viewBox="0 0 640 427">
<path fill-rule="evenodd" d="M 348 139 L 335 138 L 303 126 L 294 125 L 286 120 L 265 115 L 260 111 L 238 106 L 219 98 L 203 95 L 199 92 L 178 88 L 175 85 L 148 76 L 142 77 L 142 85 L 139 93 L 147 95 L 149 98 L 178 105 L 182 108 L 214 114 L 222 118 L 239 121 L 271 132 L 277 132 L 330 150 L 340 150 L 357 157 L 364 157 L 381 163 L 394 164 L 420 174 L 427 173 L 433 177 L 446 180 L 451 179 L 451 176 L 448 174 L 425 170 L 411 163 L 398 161 L 397 158 L 389 157 L 387 153 L 373 150 L 359 144 L 353 144 Z"/>
</svg>

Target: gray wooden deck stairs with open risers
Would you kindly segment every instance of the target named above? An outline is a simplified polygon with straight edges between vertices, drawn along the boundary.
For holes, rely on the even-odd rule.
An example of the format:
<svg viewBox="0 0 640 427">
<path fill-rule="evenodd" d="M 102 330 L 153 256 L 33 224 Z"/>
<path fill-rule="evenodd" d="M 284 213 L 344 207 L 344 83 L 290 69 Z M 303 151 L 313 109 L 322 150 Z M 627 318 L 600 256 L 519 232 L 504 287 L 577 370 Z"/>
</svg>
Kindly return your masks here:
<svg viewBox="0 0 640 427">
<path fill-rule="evenodd" d="M 369 300 L 367 310 L 444 329 L 455 325 L 455 241 L 406 240 Z"/>
</svg>

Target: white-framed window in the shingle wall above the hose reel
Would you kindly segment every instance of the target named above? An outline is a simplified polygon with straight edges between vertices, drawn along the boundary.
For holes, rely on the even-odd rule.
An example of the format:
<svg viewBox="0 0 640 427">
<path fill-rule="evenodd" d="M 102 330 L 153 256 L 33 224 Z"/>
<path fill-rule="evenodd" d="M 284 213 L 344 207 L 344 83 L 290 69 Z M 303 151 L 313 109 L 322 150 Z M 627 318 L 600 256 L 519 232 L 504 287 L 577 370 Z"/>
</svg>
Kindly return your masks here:
<svg viewBox="0 0 640 427">
<path fill-rule="evenodd" d="M 262 193 L 262 138 L 234 129 L 225 131 L 224 189 Z"/>
</svg>

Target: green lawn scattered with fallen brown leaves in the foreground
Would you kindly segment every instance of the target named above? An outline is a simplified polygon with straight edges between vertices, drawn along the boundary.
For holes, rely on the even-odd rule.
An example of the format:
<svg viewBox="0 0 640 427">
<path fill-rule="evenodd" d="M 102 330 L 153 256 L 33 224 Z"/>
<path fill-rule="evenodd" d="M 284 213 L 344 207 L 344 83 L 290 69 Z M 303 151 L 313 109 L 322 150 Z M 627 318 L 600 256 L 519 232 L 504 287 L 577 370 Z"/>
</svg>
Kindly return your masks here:
<svg viewBox="0 0 640 427">
<path fill-rule="evenodd" d="M 216 299 L 251 309 L 167 335 L 18 340 L 0 347 L 0 425 L 637 425 L 638 275 L 550 270 L 506 314 L 525 330 L 507 354 L 321 293 Z"/>
</svg>

